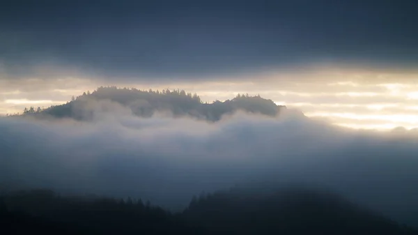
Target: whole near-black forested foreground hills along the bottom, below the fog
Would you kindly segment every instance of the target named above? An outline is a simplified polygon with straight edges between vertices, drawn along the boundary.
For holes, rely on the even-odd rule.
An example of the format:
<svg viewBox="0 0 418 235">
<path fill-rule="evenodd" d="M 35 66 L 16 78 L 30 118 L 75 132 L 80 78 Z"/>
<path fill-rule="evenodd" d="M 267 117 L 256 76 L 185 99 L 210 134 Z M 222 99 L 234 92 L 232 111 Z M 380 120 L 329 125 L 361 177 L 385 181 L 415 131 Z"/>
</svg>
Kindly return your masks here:
<svg viewBox="0 0 418 235">
<path fill-rule="evenodd" d="M 418 234 L 327 192 L 233 189 L 170 213 L 136 199 L 60 197 L 49 190 L 0 200 L 1 234 Z"/>
</svg>

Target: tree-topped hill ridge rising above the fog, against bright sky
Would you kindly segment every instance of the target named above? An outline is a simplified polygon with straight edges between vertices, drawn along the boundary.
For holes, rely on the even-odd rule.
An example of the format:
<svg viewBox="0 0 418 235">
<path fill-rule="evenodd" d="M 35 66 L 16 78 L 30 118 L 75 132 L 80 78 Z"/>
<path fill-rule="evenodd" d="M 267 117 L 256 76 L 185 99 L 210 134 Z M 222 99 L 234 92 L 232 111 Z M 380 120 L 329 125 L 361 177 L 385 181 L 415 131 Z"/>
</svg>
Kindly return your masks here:
<svg viewBox="0 0 418 235">
<path fill-rule="evenodd" d="M 27 110 L 32 110 L 32 112 L 26 110 L 25 113 L 88 120 L 97 111 L 112 111 L 114 103 L 130 108 L 132 113 L 137 116 L 150 117 L 155 112 L 170 112 L 173 116 L 189 115 L 208 121 L 218 121 L 222 115 L 238 110 L 276 116 L 281 109 L 286 108 L 260 96 L 238 95 L 232 100 L 224 102 L 203 103 L 196 94 L 192 95 L 183 90 L 141 91 L 118 89 L 116 86 L 101 86 L 92 93 L 88 92 L 77 98 L 72 98 L 69 103 L 52 106 L 38 112 L 33 112 L 33 108 L 31 108 Z"/>
</svg>

